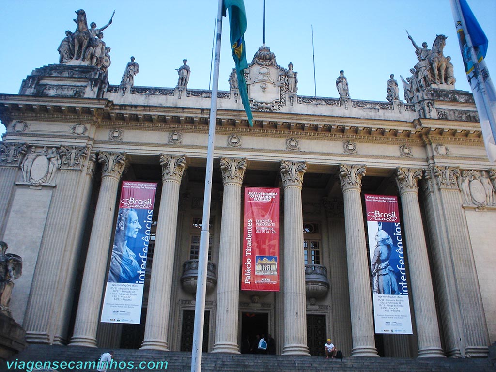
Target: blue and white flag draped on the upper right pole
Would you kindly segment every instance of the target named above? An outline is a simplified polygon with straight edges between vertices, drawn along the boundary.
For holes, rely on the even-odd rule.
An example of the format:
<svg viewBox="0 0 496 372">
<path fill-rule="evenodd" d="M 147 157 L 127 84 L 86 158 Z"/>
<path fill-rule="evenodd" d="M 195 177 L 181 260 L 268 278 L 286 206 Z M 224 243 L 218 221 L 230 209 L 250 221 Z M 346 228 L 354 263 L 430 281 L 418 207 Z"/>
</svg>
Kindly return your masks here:
<svg viewBox="0 0 496 372">
<path fill-rule="evenodd" d="M 488 38 L 466 0 L 451 0 L 456 33 L 467 79 L 479 114 L 489 161 L 496 162 L 496 92 L 484 58 Z"/>
</svg>

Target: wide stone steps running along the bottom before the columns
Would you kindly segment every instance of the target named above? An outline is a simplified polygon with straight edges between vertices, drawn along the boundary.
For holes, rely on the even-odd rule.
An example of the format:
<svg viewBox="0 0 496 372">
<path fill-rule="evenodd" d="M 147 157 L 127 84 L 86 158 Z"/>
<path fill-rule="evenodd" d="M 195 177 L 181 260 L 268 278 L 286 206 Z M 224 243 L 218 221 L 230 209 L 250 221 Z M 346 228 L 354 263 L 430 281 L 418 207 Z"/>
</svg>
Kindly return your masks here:
<svg viewBox="0 0 496 372">
<path fill-rule="evenodd" d="M 82 362 L 84 366 L 84 362 L 94 362 L 106 351 L 108 350 L 85 347 L 29 345 L 22 353 L 7 360 L 7 363 L 14 363 L 14 365 L 7 368 L 7 364 L 4 363 L 0 365 L 0 371 L 36 371 L 36 369 L 33 369 L 33 365 L 26 365 L 24 368 L 21 366 L 22 362 L 36 361 Z M 109 372 L 129 372 L 132 369 L 146 372 L 187 372 L 191 370 L 191 353 L 188 352 L 130 349 L 116 349 L 114 352 L 114 361 L 117 363 L 117 367 L 108 370 Z M 166 366 L 164 364 L 159 368 L 153 367 L 157 366 L 158 362 L 165 361 L 167 361 Z M 142 366 L 143 368 L 140 368 L 140 362 L 145 362 Z M 495 372 L 494 362 L 496 361 L 491 359 L 469 358 L 344 358 L 343 361 L 340 361 L 310 356 L 204 353 L 202 372 Z M 17 364 L 15 365 L 15 363 Z M 132 363 L 132 365 L 130 366 L 129 363 Z M 43 371 L 42 367 L 40 369 Z M 91 366 L 87 366 L 87 368 L 77 369 L 59 368 L 58 371 L 94 372 L 95 370 Z"/>
</svg>

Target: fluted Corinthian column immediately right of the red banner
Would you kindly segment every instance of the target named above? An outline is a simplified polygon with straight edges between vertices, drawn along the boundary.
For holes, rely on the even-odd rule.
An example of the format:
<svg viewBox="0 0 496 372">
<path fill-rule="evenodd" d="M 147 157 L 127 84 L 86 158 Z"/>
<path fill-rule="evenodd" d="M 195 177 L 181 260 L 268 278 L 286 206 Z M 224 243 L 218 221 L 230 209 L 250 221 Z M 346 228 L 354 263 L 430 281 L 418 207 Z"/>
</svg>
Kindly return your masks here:
<svg viewBox="0 0 496 372">
<path fill-rule="evenodd" d="M 283 355 L 308 355 L 302 184 L 306 162 L 281 162 L 284 185 Z"/>
</svg>

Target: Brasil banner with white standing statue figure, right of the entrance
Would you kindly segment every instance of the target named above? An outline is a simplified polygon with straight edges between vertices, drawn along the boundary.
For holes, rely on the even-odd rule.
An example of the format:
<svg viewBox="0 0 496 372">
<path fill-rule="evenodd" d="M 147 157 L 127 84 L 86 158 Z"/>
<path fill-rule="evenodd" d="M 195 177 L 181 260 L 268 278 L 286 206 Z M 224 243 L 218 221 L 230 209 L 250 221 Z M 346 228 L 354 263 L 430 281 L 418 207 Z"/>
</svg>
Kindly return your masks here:
<svg viewBox="0 0 496 372">
<path fill-rule="evenodd" d="M 412 334 L 398 199 L 365 195 L 375 333 Z"/>
</svg>

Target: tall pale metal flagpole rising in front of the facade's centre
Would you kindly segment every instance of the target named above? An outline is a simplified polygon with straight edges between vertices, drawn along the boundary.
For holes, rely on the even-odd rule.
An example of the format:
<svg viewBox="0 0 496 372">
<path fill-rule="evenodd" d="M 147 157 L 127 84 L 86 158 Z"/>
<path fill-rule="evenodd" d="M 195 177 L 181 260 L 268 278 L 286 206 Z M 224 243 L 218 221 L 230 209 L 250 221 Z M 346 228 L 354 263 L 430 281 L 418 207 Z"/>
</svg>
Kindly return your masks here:
<svg viewBox="0 0 496 372">
<path fill-rule="evenodd" d="M 203 347 L 203 322 L 207 289 L 208 242 L 210 233 L 210 199 L 212 194 L 212 173 L 214 158 L 215 119 L 217 117 L 217 91 L 219 90 L 220 47 L 222 36 L 222 1 L 219 0 L 217 15 L 217 37 L 214 57 L 214 77 L 210 104 L 208 129 L 207 167 L 205 173 L 205 192 L 203 194 L 203 218 L 201 221 L 200 251 L 198 253 L 198 278 L 196 284 L 196 303 L 194 307 L 193 350 L 191 353 L 191 372 L 201 372 L 201 353 Z"/>
</svg>

